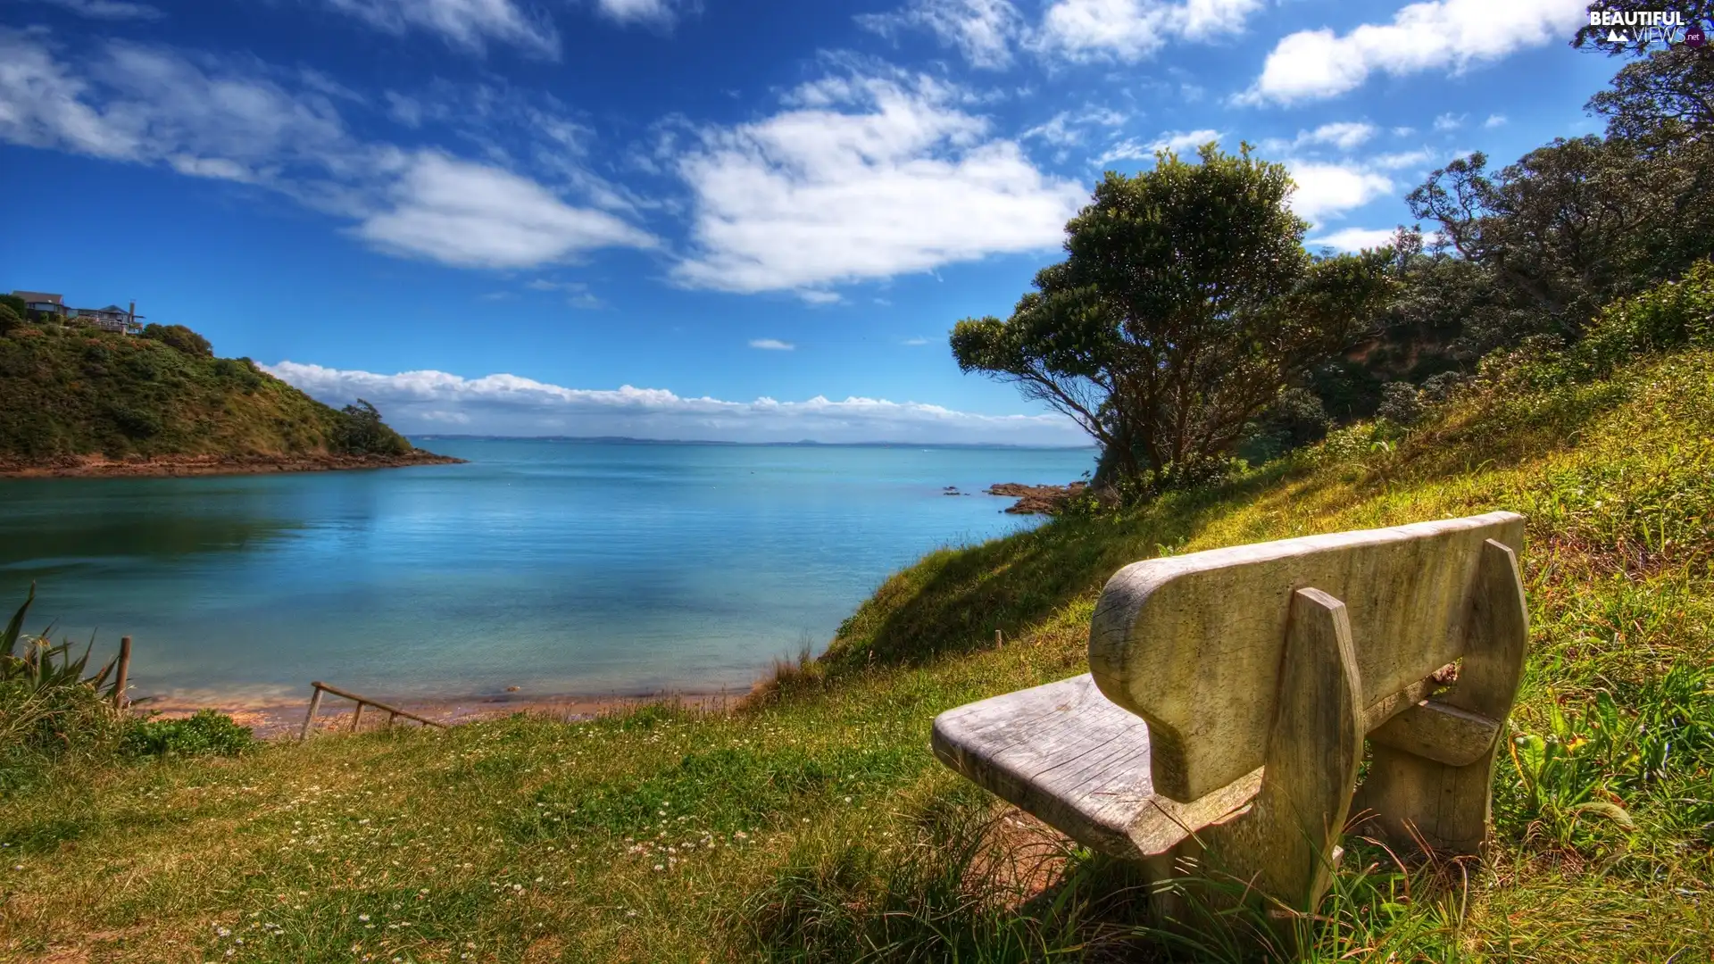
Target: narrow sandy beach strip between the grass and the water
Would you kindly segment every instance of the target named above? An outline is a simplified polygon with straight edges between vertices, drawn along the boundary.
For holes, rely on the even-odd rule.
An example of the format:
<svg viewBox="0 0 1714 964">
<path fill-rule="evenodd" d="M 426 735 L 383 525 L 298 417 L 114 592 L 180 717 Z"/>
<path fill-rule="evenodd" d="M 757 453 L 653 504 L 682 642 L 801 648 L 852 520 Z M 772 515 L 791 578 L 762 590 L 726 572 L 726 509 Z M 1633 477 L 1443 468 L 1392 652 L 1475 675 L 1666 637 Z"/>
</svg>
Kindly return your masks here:
<svg viewBox="0 0 1714 964">
<path fill-rule="evenodd" d="M 703 712 L 723 712 L 735 707 L 744 696 L 749 695 L 749 688 L 739 691 L 718 691 L 718 693 L 682 693 L 682 691 L 656 691 L 656 693 L 610 693 L 610 695 L 578 695 L 578 693 L 555 693 L 555 695 L 524 695 L 524 693 L 490 693 L 480 696 L 430 696 L 423 700 L 386 696 L 363 693 L 363 696 L 374 696 L 384 703 L 391 703 L 401 710 L 444 722 L 449 726 L 502 719 L 512 714 L 531 714 L 548 719 L 557 719 L 560 722 L 581 722 L 591 720 L 603 715 L 620 714 L 636 710 L 639 707 L 651 705 L 679 705 Z M 230 715 L 238 726 L 247 726 L 255 732 L 257 739 L 295 739 L 303 729 L 303 717 L 309 712 L 310 698 L 209 698 L 209 700 L 185 700 L 185 698 L 168 698 L 168 696 L 149 696 L 139 698 L 130 703 L 130 712 L 144 719 L 180 719 L 195 714 L 197 710 L 216 710 Z M 351 714 L 357 703 L 326 695 L 322 696 L 321 708 L 315 712 L 315 732 L 345 732 L 351 726 Z M 386 722 L 386 714 L 369 708 L 363 714 L 363 732 L 370 729 L 381 729 Z M 401 720 L 399 726 L 420 726 L 410 720 Z"/>
</svg>

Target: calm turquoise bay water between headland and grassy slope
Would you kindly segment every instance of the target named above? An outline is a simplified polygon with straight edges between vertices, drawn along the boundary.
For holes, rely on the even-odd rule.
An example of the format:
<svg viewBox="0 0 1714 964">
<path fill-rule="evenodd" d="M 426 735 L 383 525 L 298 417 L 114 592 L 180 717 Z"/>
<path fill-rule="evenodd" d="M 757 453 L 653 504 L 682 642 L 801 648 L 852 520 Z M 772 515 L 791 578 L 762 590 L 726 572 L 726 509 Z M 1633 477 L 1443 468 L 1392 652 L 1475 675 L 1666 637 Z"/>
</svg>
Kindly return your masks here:
<svg viewBox="0 0 1714 964">
<path fill-rule="evenodd" d="M 437 439 L 384 472 L 0 480 L 0 609 L 38 580 L 139 693 L 399 696 L 744 688 L 891 571 L 1034 525 L 994 482 L 1078 449 Z M 943 496 L 956 485 L 968 497 Z M 55 633 L 58 638 L 60 631 Z"/>
</svg>

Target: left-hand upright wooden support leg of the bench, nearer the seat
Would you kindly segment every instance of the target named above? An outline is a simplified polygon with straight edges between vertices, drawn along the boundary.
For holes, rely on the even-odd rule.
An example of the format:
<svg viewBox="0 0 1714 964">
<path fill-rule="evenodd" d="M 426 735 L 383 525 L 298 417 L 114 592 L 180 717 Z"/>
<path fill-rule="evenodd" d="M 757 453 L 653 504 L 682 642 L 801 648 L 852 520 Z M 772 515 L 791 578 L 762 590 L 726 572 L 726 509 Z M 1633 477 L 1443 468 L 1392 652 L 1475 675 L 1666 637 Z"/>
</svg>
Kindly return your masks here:
<svg viewBox="0 0 1714 964">
<path fill-rule="evenodd" d="M 1332 880 L 1363 760 L 1361 691 L 1345 606 L 1297 590 L 1262 789 L 1250 813 L 1198 834 L 1208 868 L 1270 897 L 1275 911 L 1313 913 Z"/>
</svg>

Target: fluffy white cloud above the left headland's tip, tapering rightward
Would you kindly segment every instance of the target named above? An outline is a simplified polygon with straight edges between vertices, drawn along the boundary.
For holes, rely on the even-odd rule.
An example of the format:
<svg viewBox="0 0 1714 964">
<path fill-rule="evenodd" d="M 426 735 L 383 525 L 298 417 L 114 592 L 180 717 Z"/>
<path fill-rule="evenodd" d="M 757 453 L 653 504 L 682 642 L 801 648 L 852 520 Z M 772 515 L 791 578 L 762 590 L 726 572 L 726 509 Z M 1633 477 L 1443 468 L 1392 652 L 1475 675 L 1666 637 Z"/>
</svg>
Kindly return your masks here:
<svg viewBox="0 0 1714 964">
<path fill-rule="evenodd" d="M 655 247 L 605 211 L 572 208 L 516 173 L 435 151 L 410 158 L 393 206 L 357 233 L 396 254 L 470 268 L 533 268 L 596 247 Z"/>
</svg>

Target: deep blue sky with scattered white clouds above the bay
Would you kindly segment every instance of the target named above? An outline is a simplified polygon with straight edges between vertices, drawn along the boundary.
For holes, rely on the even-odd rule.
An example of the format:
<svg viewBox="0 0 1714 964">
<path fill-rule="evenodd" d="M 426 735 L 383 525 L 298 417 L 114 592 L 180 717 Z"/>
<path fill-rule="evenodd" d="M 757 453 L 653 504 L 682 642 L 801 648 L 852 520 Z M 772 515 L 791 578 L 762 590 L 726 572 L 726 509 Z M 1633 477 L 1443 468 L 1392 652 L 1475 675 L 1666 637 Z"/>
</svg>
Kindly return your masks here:
<svg viewBox="0 0 1714 964">
<path fill-rule="evenodd" d="M 0 0 L 0 288 L 410 432 L 1076 443 L 963 376 L 1102 170 L 1258 144 L 1376 244 L 1596 130 L 1577 0 Z"/>
</svg>

